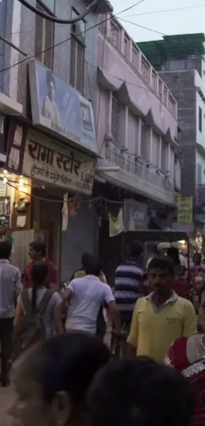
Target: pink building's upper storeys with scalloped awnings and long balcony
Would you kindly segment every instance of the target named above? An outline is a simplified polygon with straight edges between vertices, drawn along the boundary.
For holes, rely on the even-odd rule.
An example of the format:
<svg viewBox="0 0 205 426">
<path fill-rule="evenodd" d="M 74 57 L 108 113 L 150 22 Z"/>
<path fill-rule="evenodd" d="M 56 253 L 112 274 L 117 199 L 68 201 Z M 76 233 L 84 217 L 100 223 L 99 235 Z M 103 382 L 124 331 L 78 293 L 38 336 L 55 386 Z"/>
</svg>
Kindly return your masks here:
<svg viewBox="0 0 205 426">
<path fill-rule="evenodd" d="M 98 38 L 96 108 L 100 177 L 144 198 L 175 205 L 177 102 L 115 18 Z"/>
</svg>

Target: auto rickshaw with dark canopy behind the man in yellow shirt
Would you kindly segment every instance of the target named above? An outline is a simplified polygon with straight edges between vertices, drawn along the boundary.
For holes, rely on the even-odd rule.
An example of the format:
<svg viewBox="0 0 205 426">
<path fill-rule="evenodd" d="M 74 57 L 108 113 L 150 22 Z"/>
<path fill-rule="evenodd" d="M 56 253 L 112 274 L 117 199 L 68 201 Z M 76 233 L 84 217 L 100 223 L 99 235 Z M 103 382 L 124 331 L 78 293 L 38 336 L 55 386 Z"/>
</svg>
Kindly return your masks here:
<svg viewBox="0 0 205 426">
<path fill-rule="evenodd" d="M 127 257 L 129 246 L 134 242 L 140 242 L 144 246 L 144 269 L 146 269 L 147 261 L 149 257 L 156 255 L 154 253 L 154 246 L 156 247 L 159 243 L 166 242 L 172 245 L 179 241 L 185 241 L 187 243 L 187 266 L 188 272 L 186 279 L 176 279 L 173 282 L 173 290 L 177 294 L 185 299 L 190 300 L 196 307 L 196 292 L 192 285 L 192 277 L 190 272 L 190 247 L 189 247 L 189 236 L 185 232 L 181 231 L 163 231 L 163 230 L 151 230 L 151 231 L 128 231 L 125 233 L 125 250 L 124 254 Z"/>
</svg>

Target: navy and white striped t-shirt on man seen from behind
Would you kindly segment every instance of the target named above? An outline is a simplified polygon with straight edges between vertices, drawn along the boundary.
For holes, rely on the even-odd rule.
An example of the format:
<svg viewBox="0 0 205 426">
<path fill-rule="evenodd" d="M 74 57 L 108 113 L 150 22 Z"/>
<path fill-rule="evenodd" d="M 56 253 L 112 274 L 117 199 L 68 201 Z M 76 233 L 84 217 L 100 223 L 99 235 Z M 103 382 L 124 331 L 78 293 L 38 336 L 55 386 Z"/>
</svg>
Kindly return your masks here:
<svg viewBox="0 0 205 426">
<path fill-rule="evenodd" d="M 135 261 L 127 261 L 116 269 L 114 298 L 122 321 L 131 321 L 137 299 L 147 293 L 147 274 Z"/>
</svg>

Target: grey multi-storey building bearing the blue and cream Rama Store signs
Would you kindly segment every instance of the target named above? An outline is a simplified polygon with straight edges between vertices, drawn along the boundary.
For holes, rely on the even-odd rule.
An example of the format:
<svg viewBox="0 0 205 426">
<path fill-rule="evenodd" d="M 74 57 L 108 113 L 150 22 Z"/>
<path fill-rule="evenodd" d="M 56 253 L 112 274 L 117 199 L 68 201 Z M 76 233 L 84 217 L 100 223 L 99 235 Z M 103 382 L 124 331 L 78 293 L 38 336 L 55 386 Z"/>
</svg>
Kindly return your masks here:
<svg viewBox="0 0 205 426">
<path fill-rule="evenodd" d="M 71 19 L 92 1 L 28 3 L 50 16 Z M 0 160 L 6 160 L 0 204 L 7 201 L 7 215 L 1 207 L 0 221 L 13 227 L 22 272 L 28 243 L 36 237 L 45 239 L 62 279 L 79 266 L 83 251 L 94 251 L 96 208 L 79 201 L 79 196 L 92 195 L 98 154 L 93 113 L 97 25 L 101 14 L 111 11 L 107 0 L 100 0 L 83 19 L 63 25 L 42 18 L 18 0 L 0 2 L 0 35 L 8 40 L 0 41 Z M 92 67 L 88 69 L 87 63 Z M 73 201 L 68 224 L 65 202 L 67 231 L 61 234 L 64 195 Z"/>
</svg>

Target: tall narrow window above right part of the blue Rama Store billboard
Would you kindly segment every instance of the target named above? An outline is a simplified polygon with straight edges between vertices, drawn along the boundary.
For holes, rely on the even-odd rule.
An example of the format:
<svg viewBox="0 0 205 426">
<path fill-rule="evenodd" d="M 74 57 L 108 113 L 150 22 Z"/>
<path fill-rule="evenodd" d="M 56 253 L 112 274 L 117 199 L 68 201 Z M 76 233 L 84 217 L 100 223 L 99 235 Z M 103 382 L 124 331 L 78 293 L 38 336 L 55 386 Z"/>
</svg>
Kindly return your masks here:
<svg viewBox="0 0 205 426">
<path fill-rule="evenodd" d="M 72 10 L 72 19 L 76 16 L 78 13 Z M 72 25 L 70 85 L 80 93 L 83 91 L 85 27 L 86 23 L 83 19 Z"/>
</svg>

